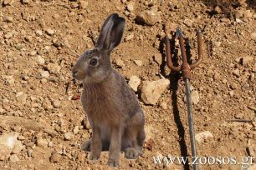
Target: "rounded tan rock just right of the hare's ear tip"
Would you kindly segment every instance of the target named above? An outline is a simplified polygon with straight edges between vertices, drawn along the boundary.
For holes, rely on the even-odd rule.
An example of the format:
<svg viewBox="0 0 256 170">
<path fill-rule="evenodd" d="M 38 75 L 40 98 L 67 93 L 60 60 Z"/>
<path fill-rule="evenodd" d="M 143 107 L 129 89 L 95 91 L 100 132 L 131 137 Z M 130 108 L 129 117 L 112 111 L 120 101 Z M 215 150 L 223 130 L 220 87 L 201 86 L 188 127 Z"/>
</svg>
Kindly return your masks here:
<svg viewBox="0 0 256 170">
<path fill-rule="evenodd" d="M 144 23 L 148 26 L 153 26 L 156 23 L 160 23 L 161 15 L 160 13 L 157 13 L 156 10 L 157 9 L 143 11 L 136 17 L 136 21 L 138 23 Z"/>
</svg>

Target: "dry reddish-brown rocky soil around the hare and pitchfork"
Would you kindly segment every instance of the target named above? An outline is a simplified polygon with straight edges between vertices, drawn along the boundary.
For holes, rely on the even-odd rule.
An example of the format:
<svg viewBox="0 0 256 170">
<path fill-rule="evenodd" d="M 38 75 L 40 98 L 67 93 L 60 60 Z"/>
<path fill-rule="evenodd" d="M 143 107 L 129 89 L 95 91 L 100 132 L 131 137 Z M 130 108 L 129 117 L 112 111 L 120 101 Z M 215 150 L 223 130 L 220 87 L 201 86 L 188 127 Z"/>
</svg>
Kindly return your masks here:
<svg viewBox="0 0 256 170">
<path fill-rule="evenodd" d="M 255 1 L 0 0 L 0 168 L 105 169 L 107 153 L 90 162 L 81 143 L 91 129 L 70 69 L 94 46 L 110 13 L 125 18 L 124 39 L 112 53 L 115 70 L 136 92 L 146 115 L 146 143 L 120 169 L 183 169 L 155 165 L 153 156 L 190 156 L 181 74 L 165 66 L 164 24 L 180 26 L 197 58 L 192 102 L 200 157 L 255 157 Z M 178 44 L 177 44 L 178 47 Z M 166 79 L 163 79 L 166 78 Z M 255 169 L 255 164 L 250 165 Z M 241 169 L 202 165 L 201 169 Z"/>
</svg>

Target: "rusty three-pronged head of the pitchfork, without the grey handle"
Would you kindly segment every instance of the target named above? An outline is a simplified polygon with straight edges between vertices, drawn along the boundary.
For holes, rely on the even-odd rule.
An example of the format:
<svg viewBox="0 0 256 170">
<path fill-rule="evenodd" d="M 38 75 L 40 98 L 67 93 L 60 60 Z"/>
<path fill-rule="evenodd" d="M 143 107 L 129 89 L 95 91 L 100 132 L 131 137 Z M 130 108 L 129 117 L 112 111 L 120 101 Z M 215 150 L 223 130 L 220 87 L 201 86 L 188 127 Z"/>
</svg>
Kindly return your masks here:
<svg viewBox="0 0 256 170">
<path fill-rule="evenodd" d="M 173 66 L 172 63 L 172 47 L 170 45 L 170 38 L 168 37 L 168 28 L 166 28 L 166 65 L 171 69 L 172 72 L 183 72 L 183 78 L 190 78 L 190 70 L 194 67 L 197 67 L 200 62 L 202 62 L 202 33 L 199 29 L 197 31 L 197 50 L 198 50 L 198 59 L 196 62 L 192 64 L 188 64 L 187 62 L 187 55 L 184 45 L 184 39 L 182 34 L 182 29 L 177 28 L 177 37 L 180 42 L 180 47 L 182 51 L 182 66 Z"/>
</svg>

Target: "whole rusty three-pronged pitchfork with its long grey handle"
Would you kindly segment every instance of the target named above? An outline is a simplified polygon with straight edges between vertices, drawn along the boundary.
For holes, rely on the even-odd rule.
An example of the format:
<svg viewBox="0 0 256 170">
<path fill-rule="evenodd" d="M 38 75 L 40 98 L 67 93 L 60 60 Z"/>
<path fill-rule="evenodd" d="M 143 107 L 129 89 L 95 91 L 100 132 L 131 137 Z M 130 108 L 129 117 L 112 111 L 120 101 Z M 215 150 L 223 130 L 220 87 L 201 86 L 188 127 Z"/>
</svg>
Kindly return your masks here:
<svg viewBox="0 0 256 170">
<path fill-rule="evenodd" d="M 177 38 L 180 43 L 181 51 L 182 51 L 182 65 L 181 66 L 173 66 L 172 64 L 172 49 L 170 45 L 170 39 L 168 37 L 168 28 L 165 27 L 166 32 L 166 64 L 167 67 L 171 69 L 172 72 L 180 72 L 182 71 L 182 77 L 185 82 L 186 87 L 186 97 L 187 97 L 187 113 L 188 113 L 188 123 L 189 123 L 189 133 L 190 133 L 190 143 L 192 147 L 192 162 L 197 157 L 197 148 L 196 148 L 196 141 L 195 141 L 195 134 L 194 134 L 194 127 L 193 127 L 193 115 L 192 115 L 192 104 L 191 104 L 191 95 L 190 95 L 190 77 L 191 72 L 190 70 L 194 67 L 197 67 L 200 62 L 202 62 L 202 33 L 199 29 L 197 31 L 197 50 L 198 50 L 198 59 L 196 62 L 189 64 L 187 62 L 187 55 L 184 45 L 184 39 L 182 34 L 182 29 L 177 28 Z M 193 163 L 192 168 L 197 170 L 197 164 Z"/>
</svg>

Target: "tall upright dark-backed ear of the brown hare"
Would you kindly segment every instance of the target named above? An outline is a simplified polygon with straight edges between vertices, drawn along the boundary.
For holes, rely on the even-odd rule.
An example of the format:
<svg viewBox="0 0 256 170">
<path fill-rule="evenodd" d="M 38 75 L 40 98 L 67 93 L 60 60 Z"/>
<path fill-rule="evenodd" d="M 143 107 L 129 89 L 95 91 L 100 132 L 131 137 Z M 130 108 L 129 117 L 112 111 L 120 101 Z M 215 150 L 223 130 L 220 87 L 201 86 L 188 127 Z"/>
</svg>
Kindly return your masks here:
<svg viewBox="0 0 256 170">
<path fill-rule="evenodd" d="M 100 30 L 100 36 L 95 47 L 111 51 L 120 43 L 125 29 L 125 19 L 113 13 L 106 18 Z"/>
</svg>

